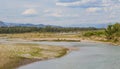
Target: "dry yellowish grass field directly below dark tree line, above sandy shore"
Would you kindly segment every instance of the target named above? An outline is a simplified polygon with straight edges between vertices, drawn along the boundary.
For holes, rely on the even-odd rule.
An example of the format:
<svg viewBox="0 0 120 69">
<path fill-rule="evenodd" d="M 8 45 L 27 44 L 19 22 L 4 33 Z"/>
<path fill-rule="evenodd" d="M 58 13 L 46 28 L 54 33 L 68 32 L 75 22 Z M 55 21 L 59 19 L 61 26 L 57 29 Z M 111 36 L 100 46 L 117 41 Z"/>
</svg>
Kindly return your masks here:
<svg viewBox="0 0 120 69">
<path fill-rule="evenodd" d="M 66 33 L 21 33 L 21 34 L 0 34 L 0 37 L 8 38 L 78 38 L 76 34 L 66 34 Z"/>
</svg>

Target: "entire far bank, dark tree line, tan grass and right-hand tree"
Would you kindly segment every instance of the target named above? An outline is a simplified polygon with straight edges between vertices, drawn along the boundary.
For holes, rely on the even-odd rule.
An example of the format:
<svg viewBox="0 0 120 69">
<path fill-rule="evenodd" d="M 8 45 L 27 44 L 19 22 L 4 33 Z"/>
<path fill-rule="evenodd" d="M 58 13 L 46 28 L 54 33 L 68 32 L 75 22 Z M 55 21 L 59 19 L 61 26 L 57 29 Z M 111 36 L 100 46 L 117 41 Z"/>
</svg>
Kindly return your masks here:
<svg viewBox="0 0 120 69">
<path fill-rule="evenodd" d="M 79 41 L 80 38 L 119 42 L 120 24 L 108 25 L 106 29 L 74 27 L 0 27 L 0 37 L 22 38 L 35 41 Z M 69 38 L 69 39 L 67 39 Z M 75 38 L 75 39 L 74 39 Z"/>
</svg>

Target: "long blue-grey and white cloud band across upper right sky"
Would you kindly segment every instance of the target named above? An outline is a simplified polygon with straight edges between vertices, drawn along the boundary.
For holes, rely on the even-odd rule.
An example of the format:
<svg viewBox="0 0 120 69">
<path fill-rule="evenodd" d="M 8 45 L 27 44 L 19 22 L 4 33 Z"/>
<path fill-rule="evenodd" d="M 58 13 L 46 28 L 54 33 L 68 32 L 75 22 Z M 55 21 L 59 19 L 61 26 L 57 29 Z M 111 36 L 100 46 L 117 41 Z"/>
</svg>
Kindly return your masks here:
<svg viewBox="0 0 120 69">
<path fill-rule="evenodd" d="M 87 9 L 90 12 L 96 12 L 100 10 L 100 7 L 103 11 L 109 12 L 111 10 L 120 9 L 120 0 L 79 0 L 73 2 L 56 2 L 58 6 L 66 6 L 66 7 L 81 7 L 81 8 L 89 8 Z M 95 7 L 95 8 L 91 8 Z M 98 8 L 96 8 L 98 7 Z"/>
</svg>

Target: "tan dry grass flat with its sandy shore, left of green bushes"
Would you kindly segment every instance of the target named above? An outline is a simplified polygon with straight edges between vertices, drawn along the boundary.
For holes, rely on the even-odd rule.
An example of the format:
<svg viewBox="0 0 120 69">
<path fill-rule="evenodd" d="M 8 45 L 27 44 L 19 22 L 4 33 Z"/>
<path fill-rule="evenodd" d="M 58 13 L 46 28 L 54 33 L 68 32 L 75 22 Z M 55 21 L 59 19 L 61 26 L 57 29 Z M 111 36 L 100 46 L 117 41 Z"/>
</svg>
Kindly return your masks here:
<svg viewBox="0 0 120 69">
<path fill-rule="evenodd" d="M 33 41 L 67 41 L 80 42 L 80 35 L 77 33 L 19 33 L 19 34 L 0 34 L 1 37 L 9 39 L 20 38 Z"/>
</svg>

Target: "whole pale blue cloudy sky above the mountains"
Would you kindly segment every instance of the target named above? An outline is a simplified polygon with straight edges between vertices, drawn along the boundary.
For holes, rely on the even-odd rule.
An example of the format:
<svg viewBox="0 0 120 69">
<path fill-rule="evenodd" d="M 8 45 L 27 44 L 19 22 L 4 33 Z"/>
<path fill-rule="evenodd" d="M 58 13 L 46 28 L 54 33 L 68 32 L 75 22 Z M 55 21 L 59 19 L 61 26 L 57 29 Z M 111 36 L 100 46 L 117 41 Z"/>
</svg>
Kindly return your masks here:
<svg viewBox="0 0 120 69">
<path fill-rule="evenodd" d="M 50 25 L 120 22 L 120 0 L 0 0 L 0 20 Z"/>
</svg>

